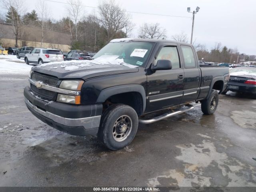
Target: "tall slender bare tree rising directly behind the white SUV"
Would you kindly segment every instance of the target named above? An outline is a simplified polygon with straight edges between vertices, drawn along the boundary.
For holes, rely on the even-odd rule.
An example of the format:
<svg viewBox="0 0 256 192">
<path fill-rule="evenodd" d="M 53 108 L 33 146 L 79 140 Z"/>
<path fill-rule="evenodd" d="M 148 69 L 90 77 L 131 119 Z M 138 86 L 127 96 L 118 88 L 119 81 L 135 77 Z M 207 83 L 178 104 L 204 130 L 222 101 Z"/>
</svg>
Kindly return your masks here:
<svg viewBox="0 0 256 192">
<path fill-rule="evenodd" d="M 36 9 L 39 16 L 38 24 L 41 26 L 41 30 L 42 30 L 42 33 L 41 33 L 41 47 L 42 47 L 43 40 L 44 40 L 44 25 L 48 18 L 48 6 L 44 0 L 40 0 L 36 4 Z"/>
</svg>

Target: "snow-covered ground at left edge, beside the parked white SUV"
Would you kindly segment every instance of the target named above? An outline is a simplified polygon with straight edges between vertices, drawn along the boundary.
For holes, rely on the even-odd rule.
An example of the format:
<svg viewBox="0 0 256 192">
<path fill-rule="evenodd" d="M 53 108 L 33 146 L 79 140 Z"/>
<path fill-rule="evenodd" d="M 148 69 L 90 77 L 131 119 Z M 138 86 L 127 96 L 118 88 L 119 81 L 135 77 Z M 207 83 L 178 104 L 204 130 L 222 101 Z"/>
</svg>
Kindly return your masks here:
<svg viewBox="0 0 256 192">
<path fill-rule="evenodd" d="M 16 55 L 0 55 L 0 74 L 29 74 L 32 67 Z"/>
</svg>

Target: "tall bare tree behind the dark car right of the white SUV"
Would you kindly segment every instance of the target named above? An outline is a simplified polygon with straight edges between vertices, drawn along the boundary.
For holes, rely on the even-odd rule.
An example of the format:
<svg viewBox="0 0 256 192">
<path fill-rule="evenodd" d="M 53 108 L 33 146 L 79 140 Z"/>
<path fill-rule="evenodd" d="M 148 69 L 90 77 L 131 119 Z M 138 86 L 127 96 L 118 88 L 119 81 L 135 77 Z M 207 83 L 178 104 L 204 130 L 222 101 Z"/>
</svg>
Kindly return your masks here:
<svg viewBox="0 0 256 192">
<path fill-rule="evenodd" d="M 81 0 L 68 0 L 67 6 L 69 18 L 74 22 L 76 41 L 78 41 L 78 26 L 82 16 L 82 1 Z"/>
</svg>

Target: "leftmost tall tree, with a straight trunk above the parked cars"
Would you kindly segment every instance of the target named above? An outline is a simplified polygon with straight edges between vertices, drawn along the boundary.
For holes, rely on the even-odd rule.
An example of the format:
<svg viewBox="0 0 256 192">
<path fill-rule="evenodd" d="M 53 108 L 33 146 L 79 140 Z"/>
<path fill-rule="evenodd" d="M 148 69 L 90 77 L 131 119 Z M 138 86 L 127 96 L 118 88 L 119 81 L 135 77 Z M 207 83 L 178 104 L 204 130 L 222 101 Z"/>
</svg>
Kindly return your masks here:
<svg viewBox="0 0 256 192">
<path fill-rule="evenodd" d="M 22 24 L 21 16 L 24 13 L 22 0 L 3 0 L 2 4 L 8 11 L 9 20 L 12 24 L 12 30 L 15 35 L 15 46 L 18 47 L 18 37 L 20 25 Z"/>
</svg>

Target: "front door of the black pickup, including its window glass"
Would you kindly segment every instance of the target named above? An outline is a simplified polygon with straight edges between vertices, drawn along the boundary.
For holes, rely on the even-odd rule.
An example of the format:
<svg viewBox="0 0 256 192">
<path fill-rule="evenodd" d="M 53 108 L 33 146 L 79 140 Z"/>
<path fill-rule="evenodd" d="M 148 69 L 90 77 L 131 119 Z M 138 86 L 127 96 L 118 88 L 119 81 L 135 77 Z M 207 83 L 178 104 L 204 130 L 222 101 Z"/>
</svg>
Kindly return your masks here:
<svg viewBox="0 0 256 192">
<path fill-rule="evenodd" d="M 160 59 L 172 62 L 171 70 L 156 70 L 147 74 L 146 112 L 160 110 L 181 103 L 184 89 L 184 70 L 180 65 L 177 46 L 163 46 L 158 51 L 156 65 Z"/>
</svg>

